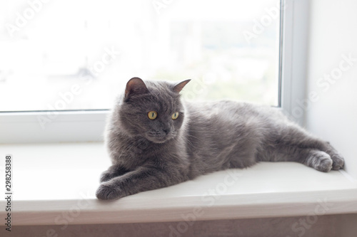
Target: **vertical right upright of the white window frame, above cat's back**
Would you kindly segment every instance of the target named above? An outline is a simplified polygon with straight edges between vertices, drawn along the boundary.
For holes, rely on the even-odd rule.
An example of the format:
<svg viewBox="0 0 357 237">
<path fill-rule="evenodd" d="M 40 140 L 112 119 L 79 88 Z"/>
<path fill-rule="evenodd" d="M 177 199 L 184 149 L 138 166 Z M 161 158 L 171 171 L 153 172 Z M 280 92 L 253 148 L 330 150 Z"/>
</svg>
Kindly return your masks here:
<svg viewBox="0 0 357 237">
<path fill-rule="evenodd" d="M 282 0 L 281 28 L 281 107 L 298 125 L 305 126 L 306 108 L 301 103 L 306 97 L 308 60 L 308 0 Z"/>
</svg>

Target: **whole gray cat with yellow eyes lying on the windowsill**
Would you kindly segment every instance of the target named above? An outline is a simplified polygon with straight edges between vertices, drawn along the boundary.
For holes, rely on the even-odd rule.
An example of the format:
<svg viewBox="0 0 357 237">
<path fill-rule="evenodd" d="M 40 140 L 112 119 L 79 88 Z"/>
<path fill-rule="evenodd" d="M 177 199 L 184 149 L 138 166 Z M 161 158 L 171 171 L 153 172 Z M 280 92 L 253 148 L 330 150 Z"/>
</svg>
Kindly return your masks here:
<svg viewBox="0 0 357 237">
<path fill-rule="evenodd" d="M 112 166 L 98 199 L 119 199 L 222 169 L 256 162 L 300 162 L 321 172 L 343 167 L 328 142 L 278 110 L 243 102 L 185 102 L 190 80 L 171 84 L 131 78 L 106 126 Z"/>
</svg>

